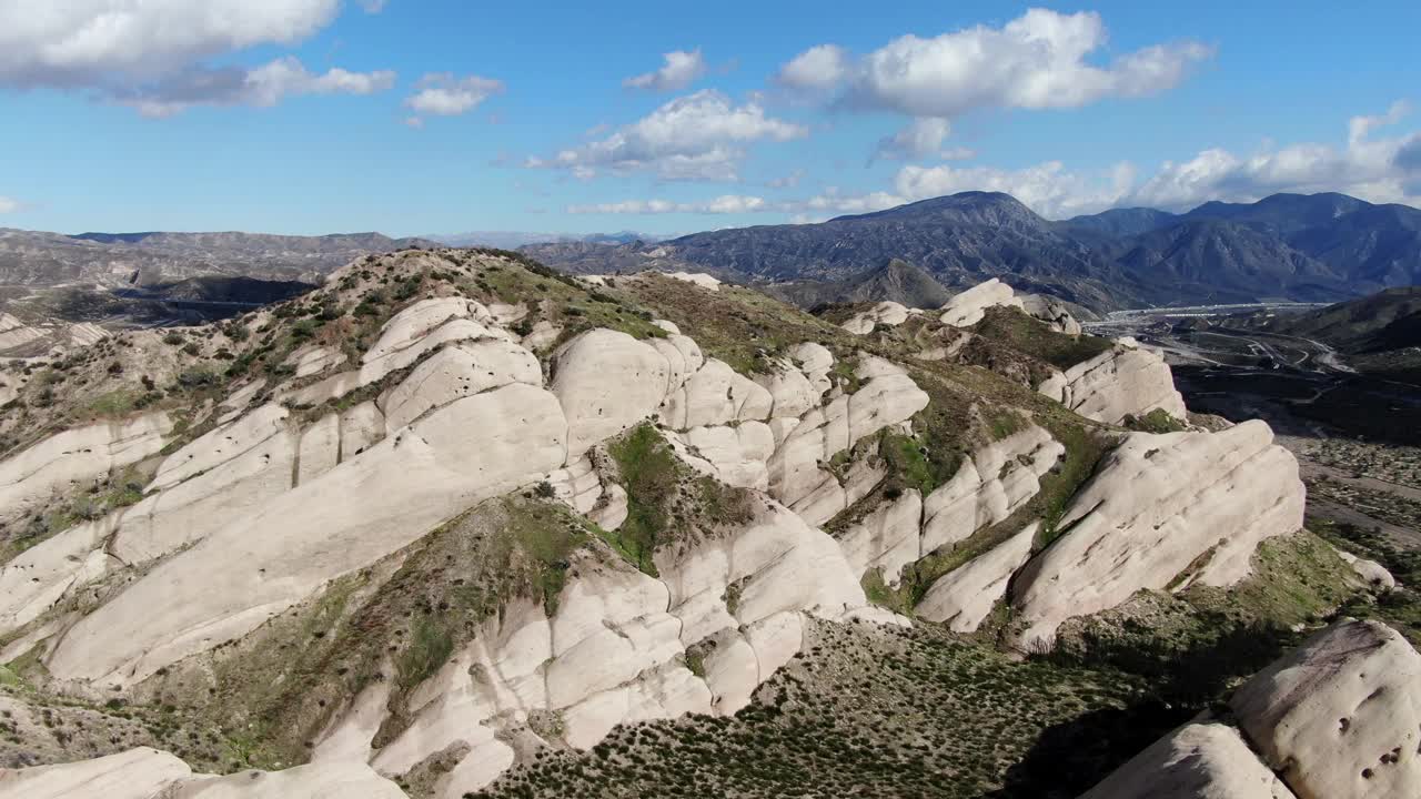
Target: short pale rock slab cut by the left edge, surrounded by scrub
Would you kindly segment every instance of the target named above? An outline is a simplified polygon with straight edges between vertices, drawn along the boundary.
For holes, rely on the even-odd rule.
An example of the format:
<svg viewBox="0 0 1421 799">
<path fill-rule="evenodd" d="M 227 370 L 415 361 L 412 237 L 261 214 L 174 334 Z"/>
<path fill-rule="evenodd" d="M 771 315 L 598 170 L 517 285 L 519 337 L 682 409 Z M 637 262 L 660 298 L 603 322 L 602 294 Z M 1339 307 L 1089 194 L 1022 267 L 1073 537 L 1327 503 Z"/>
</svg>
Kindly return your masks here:
<svg viewBox="0 0 1421 799">
<path fill-rule="evenodd" d="M 126 422 L 67 429 L 6 458 L 0 462 L 0 523 L 156 454 L 171 431 L 166 412 L 145 414 Z"/>
</svg>

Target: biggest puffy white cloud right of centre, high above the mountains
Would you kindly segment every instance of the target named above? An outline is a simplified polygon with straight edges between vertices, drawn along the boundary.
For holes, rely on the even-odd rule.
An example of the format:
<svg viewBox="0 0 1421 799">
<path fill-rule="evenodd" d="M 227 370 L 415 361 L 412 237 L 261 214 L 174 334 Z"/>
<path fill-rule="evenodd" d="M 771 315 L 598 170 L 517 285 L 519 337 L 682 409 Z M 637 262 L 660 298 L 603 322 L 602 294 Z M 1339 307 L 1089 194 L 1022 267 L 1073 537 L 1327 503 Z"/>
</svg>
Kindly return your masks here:
<svg viewBox="0 0 1421 799">
<path fill-rule="evenodd" d="M 902 36 L 860 58 L 823 44 L 786 64 L 777 80 L 791 88 L 838 88 L 845 108 L 952 119 L 980 108 L 1074 108 L 1157 94 L 1212 54 L 1201 43 L 1181 41 L 1106 65 L 1087 61 L 1106 40 L 1100 14 L 1032 9 L 1000 28 Z"/>
</svg>

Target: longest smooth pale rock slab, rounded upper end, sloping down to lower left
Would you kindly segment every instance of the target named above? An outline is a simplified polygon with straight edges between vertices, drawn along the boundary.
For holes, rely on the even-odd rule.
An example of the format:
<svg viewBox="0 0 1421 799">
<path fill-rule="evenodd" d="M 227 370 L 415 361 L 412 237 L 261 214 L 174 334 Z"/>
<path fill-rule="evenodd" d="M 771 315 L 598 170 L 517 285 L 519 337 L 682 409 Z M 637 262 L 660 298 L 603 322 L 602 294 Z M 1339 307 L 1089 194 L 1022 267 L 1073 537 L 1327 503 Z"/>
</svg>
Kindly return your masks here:
<svg viewBox="0 0 1421 799">
<path fill-rule="evenodd" d="M 125 685 L 240 637 L 327 580 L 561 466 L 566 435 L 541 388 L 459 400 L 159 564 L 77 623 L 47 665 L 61 680 Z"/>
</svg>

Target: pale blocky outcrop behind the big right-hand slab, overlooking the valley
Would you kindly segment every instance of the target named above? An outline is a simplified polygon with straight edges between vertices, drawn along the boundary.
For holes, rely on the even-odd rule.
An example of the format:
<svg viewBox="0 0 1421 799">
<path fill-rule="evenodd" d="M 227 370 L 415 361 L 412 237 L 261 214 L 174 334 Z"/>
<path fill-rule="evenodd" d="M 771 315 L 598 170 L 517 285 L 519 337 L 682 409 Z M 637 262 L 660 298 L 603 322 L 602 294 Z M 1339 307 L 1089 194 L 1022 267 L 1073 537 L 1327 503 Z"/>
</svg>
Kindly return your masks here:
<svg viewBox="0 0 1421 799">
<path fill-rule="evenodd" d="M 1158 354 L 1117 343 L 1106 353 L 1046 378 L 1037 391 L 1097 422 L 1120 424 L 1160 408 L 1177 419 L 1188 411 L 1174 374 Z"/>
</svg>

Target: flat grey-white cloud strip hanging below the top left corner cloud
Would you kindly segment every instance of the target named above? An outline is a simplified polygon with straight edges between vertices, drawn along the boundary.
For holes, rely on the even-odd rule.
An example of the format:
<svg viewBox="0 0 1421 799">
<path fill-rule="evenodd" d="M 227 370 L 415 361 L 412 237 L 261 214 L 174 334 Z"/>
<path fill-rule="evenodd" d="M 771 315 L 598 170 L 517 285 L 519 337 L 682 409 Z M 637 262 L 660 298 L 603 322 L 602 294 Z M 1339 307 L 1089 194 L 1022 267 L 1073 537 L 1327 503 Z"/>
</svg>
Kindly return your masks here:
<svg viewBox="0 0 1421 799">
<path fill-rule="evenodd" d="M 131 105 L 145 117 L 172 117 L 193 105 L 276 105 L 304 94 L 374 94 L 395 85 L 395 73 L 308 71 L 293 55 L 253 70 L 189 68 L 163 81 L 132 90 L 112 90 L 109 100 Z"/>
</svg>

